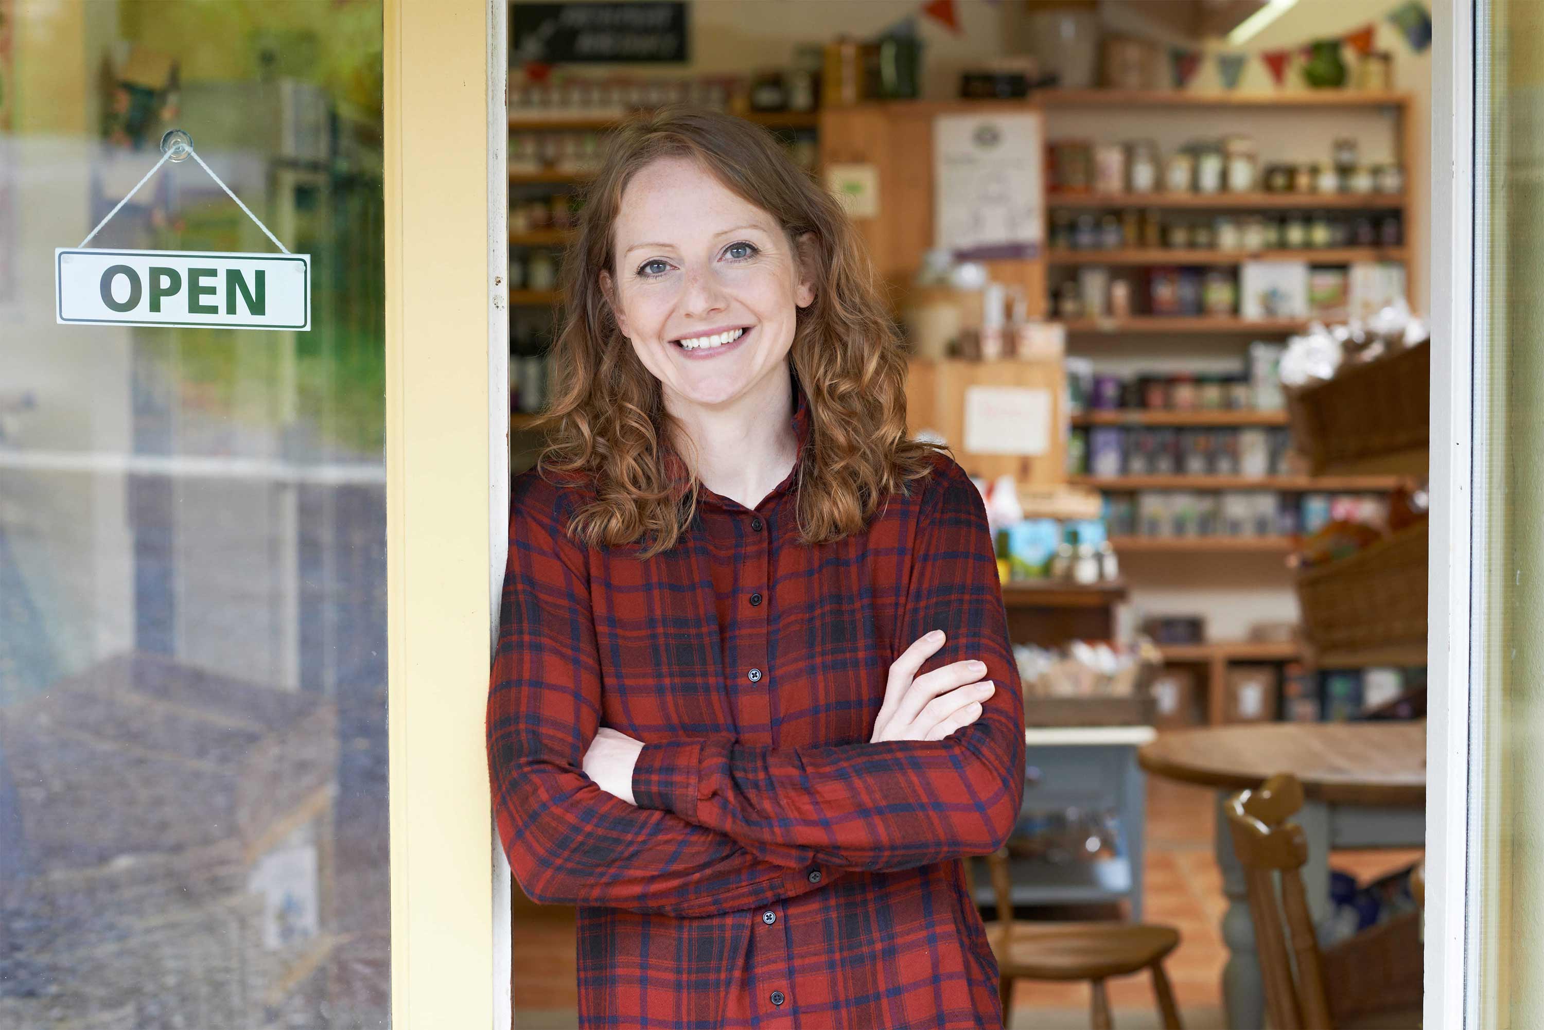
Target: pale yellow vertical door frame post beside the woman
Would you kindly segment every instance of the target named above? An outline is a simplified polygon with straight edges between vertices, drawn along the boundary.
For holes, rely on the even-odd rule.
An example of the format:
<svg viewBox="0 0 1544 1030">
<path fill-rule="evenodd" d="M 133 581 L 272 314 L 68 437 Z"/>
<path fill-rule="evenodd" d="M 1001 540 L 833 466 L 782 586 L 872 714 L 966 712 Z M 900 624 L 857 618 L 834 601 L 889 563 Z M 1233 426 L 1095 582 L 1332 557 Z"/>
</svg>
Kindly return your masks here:
<svg viewBox="0 0 1544 1030">
<path fill-rule="evenodd" d="M 508 876 L 483 744 L 508 496 L 502 212 L 491 232 L 508 188 L 505 2 L 384 0 L 397 1030 L 510 1025 Z"/>
</svg>

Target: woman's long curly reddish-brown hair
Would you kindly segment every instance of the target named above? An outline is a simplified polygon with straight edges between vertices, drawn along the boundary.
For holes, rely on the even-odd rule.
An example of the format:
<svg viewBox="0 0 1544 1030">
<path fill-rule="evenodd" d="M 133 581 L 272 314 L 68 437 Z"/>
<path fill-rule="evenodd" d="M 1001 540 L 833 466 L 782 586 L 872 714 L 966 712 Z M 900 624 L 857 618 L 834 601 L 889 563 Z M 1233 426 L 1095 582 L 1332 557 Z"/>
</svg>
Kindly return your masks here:
<svg viewBox="0 0 1544 1030">
<path fill-rule="evenodd" d="M 862 531 L 897 490 L 928 476 L 939 445 L 906 435 L 906 358 L 874 264 L 841 204 L 795 165 L 764 128 L 733 114 L 672 103 L 618 127 L 584 188 L 564 253 L 564 315 L 553 341 L 550 428 L 539 474 L 573 474 L 594 500 L 568 523 L 590 547 L 642 544 L 639 557 L 675 547 L 696 510 L 699 480 L 673 480 L 662 442 L 681 426 L 659 380 L 621 334 L 601 289 L 618 275 L 613 225 L 622 191 L 658 158 L 692 158 L 726 188 L 783 227 L 789 249 L 814 233 L 815 300 L 797 309 L 789 360 L 809 400 L 809 442 L 798 469 L 804 544 Z M 679 465 L 678 465 L 679 468 Z M 909 491 L 908 491 L 909 493 Z"/>
</svg>

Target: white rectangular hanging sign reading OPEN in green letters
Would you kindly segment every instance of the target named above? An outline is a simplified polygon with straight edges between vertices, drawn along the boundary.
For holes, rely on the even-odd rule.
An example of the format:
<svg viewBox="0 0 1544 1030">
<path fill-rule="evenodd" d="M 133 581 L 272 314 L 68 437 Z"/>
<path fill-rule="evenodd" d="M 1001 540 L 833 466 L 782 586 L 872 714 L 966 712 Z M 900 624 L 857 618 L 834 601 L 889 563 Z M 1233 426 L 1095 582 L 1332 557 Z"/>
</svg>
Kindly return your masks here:
<svg viewBox="0 0 1544 1030">
<path fill-rule="evenodd" d="M 59 323 L 310 329 L 309 253 L 54 250 Z"/>
</svg>

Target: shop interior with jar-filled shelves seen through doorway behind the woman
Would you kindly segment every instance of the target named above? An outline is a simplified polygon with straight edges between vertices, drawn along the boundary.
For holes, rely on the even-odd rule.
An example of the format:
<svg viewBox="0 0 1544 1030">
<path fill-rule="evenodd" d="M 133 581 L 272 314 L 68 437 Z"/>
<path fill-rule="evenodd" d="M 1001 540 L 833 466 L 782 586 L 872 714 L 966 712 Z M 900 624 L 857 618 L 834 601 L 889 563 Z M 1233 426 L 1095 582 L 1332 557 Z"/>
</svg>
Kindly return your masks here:
<svg viewBox="0 0 1544 1030">
<path fill-rule="evenodd" d="M 911 428 L 991 520 L 1028 767 L 968 865 L 1010 1025 L 1417 1025 L 1391 1013 L 1422 984 L 1427 6 L 755 0 L 548 31 L 584 6 L 510 8 L 513 471 L 608 127 L 672 100 L 764 125 L 848 204 Z M 573 911 L 513 906 L 517 1024 L 573 1025 Z"/>
</svg>

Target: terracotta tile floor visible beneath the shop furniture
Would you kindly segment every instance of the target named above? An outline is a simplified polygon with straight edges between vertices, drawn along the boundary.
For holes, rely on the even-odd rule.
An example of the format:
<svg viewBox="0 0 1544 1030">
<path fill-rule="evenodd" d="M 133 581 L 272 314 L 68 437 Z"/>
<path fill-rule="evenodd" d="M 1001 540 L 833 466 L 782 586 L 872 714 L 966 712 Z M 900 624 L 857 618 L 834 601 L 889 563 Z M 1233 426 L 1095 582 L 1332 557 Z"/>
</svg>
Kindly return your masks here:
<svg viewBox="0 0 1544 1030">
<path fill-rule="evenodd" d="M 1212 857 L 1214 795 L 1169 780 L 1147 781 L 1147 860 L 1144 919 L 1177 927 L 1178 950 L 1164 964 L 1190 1030 L 1218 1027 L 1220 977 L 1227 953 L 1220 923 L 1226 902 Z M 1359 880 L 1411 865 L 1419 851 L 1340 851 L 1332 863 Z M 1058 917 L 1107 916 L 1102 910 L 1064 910 Z M 1116 1025 L 1156 1025 L 1152 982 L 1146 976 L 1110 981 Z M 1014 1024 L 1087 1027 L 1085 984 L 1019 984 Z M 514 1007 L 520 1027 L 573 1025 L 573 910 L 522 906 L 514 925 Z M 1126 1010 L 1124 1013 L 1121 1010 Z M 522 1018 L 523 1016 L 523 1018 Z"/>
</svg>

